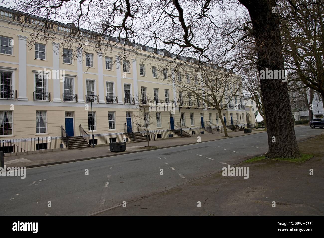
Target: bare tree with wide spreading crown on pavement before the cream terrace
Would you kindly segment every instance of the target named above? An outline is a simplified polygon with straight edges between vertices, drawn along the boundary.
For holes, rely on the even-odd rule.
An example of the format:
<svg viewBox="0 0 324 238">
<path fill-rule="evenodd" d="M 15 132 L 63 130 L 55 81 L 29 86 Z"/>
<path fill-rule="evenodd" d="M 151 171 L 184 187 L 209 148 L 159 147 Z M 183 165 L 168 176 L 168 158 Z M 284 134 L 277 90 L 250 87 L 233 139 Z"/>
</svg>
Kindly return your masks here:
<svg viewBox="0 0 324 238">
<path fill-rule="evenodd" d="M 183 73 L 184 72 L 184 73 Z M 233 102 L 239 96 L 241 78 L 232 70 L 215 64 L 186 67 L 173 72 L 173 82 L 179 93 L 180 106 L 216 108 L 225 137 L 228 136 L 222 110 L 236 108 Z M 241 95 L 242 96 L 242 95 Z"/>
</svg>

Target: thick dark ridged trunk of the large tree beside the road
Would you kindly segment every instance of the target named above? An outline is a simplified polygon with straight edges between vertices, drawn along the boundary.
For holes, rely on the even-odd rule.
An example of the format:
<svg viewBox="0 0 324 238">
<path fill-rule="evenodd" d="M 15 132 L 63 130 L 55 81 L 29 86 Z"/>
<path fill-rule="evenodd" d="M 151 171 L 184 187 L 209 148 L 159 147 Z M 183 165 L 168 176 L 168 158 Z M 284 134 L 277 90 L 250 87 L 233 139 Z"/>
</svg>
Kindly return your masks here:
<svg viewBox="0 0 324 238">
<path fill-rule="evenodd" d="M 280 19 L 272 13 L 276 0 L 238 0 L 249 11 L 258 54 L 257 67 L 261 70 L 284 70 L 280 38 Z M 291 116 L 287 83 L 283 79 L 260 79 L 268 127 L 269 151 L 267 158 L 300 157 L 294 122 Z M 272 142 L 272 138 L 276 142 Z"/>
</svg>

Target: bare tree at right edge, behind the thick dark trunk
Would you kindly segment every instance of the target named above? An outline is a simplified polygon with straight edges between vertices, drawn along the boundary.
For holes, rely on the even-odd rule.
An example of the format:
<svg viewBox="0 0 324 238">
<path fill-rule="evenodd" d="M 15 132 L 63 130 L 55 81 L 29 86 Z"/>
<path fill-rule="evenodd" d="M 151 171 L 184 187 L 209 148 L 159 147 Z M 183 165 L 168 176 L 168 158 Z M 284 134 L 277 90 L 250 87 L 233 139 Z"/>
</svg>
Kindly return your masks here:
<svg viewBox="0 0 324 238">
<path fill-rule="evenodd" d="M 281 34 L 286 68 L 291 78 L 300 83 L 300 94 L 306 88 L 317 91 L 324 97 L 324 1 L 295 0 L 279 1 L 281 6 Z M 312 97 L 312 96 L 311 96 Z M 312 103 L 304 97 L 308 106 Z M 310 114 L 311 115 L 311 114 Z"/>
</svg>

